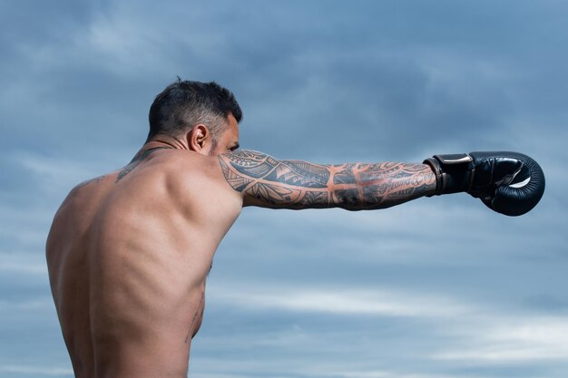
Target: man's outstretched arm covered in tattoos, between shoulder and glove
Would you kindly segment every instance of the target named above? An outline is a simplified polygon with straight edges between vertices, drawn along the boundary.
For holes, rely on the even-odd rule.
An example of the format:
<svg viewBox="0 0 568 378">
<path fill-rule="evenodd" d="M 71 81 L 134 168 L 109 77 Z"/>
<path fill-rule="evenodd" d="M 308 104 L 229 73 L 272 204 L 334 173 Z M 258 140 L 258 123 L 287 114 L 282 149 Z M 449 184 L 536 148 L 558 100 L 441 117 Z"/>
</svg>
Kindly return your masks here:
<svg viewBox="0 0 568 378">
<path fill-rule="evenodd" d="M 219 156 L 230 186 L 244 206 L 262 208 L 388 208 L 436 190 L 436 177 L 425 164 L 383 162 L 320 165 L 276 160 L 252 150 Z"/>
</svg>

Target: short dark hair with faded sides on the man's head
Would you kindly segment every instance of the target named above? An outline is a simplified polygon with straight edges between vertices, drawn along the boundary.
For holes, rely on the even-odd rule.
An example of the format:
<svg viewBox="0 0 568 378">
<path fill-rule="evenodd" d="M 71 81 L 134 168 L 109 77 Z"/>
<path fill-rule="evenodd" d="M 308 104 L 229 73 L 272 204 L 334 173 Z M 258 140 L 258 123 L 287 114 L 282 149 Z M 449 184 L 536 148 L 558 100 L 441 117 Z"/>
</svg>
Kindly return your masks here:
<svg viewBox="0 0 568 378">
<path fill-rule="evenodd" d="M 237 122 L 242 119 L 239 102 L 228 89 L 216 82 L 181 81 L 178 77 L 152 102 L 148 140 L 156 135 L 176 136 L 202 123 L 215 143 L 229 113 Z"/>
</svg>

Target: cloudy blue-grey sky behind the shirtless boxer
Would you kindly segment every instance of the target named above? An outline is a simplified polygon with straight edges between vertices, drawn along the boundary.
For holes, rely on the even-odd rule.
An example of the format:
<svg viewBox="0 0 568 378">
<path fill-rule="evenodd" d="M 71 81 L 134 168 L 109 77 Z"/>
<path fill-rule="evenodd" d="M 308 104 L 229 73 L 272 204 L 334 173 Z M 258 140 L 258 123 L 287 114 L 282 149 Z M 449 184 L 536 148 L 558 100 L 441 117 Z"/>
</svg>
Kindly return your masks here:
<svg viewBox="0 0 568 378">
<path fill-rule="evenodd" d="M 240 145 L 318 163 L 514 150 L 546 175 L 510 218 L 466 194 L 377 211 L 245 208 L 190 377 L 568 376 L 568 4 L 0 3 L 0 378 L 71 377 L 44 242 L 122 167 L 154 96 L 216 81 Z"/>
</svg>

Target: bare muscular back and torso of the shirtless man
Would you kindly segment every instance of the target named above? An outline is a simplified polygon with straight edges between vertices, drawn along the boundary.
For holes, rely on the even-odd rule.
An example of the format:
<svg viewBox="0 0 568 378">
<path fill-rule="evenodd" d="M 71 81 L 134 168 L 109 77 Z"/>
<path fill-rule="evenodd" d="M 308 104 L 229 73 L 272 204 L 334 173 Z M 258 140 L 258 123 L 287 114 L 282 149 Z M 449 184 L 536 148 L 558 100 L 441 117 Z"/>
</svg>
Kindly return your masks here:
<svg viewBox="0 0 568 378">
<path fill-rule="evenodd" d="M 217 158 L 187 150 L 72 190 L 46 255 L 76 377 L 186 376 L 212 257 L 241 206 Z"/>
</svg>

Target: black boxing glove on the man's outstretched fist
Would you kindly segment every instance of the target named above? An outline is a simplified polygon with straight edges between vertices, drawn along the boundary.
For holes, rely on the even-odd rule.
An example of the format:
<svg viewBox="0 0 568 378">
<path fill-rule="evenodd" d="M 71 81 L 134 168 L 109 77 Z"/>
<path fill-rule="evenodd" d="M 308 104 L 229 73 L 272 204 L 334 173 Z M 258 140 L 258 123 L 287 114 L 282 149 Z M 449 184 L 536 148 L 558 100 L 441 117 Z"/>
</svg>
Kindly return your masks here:
<svg viewBox="0 0 568 378">
<path fill-rule="evenodd" d="M 465 191 L 504 215 L 523 215 L 544 194 L 543 170 L 522 153 L 435 155 L 424 163 L 436 174 L 436 195 Z"/>
</svg>

